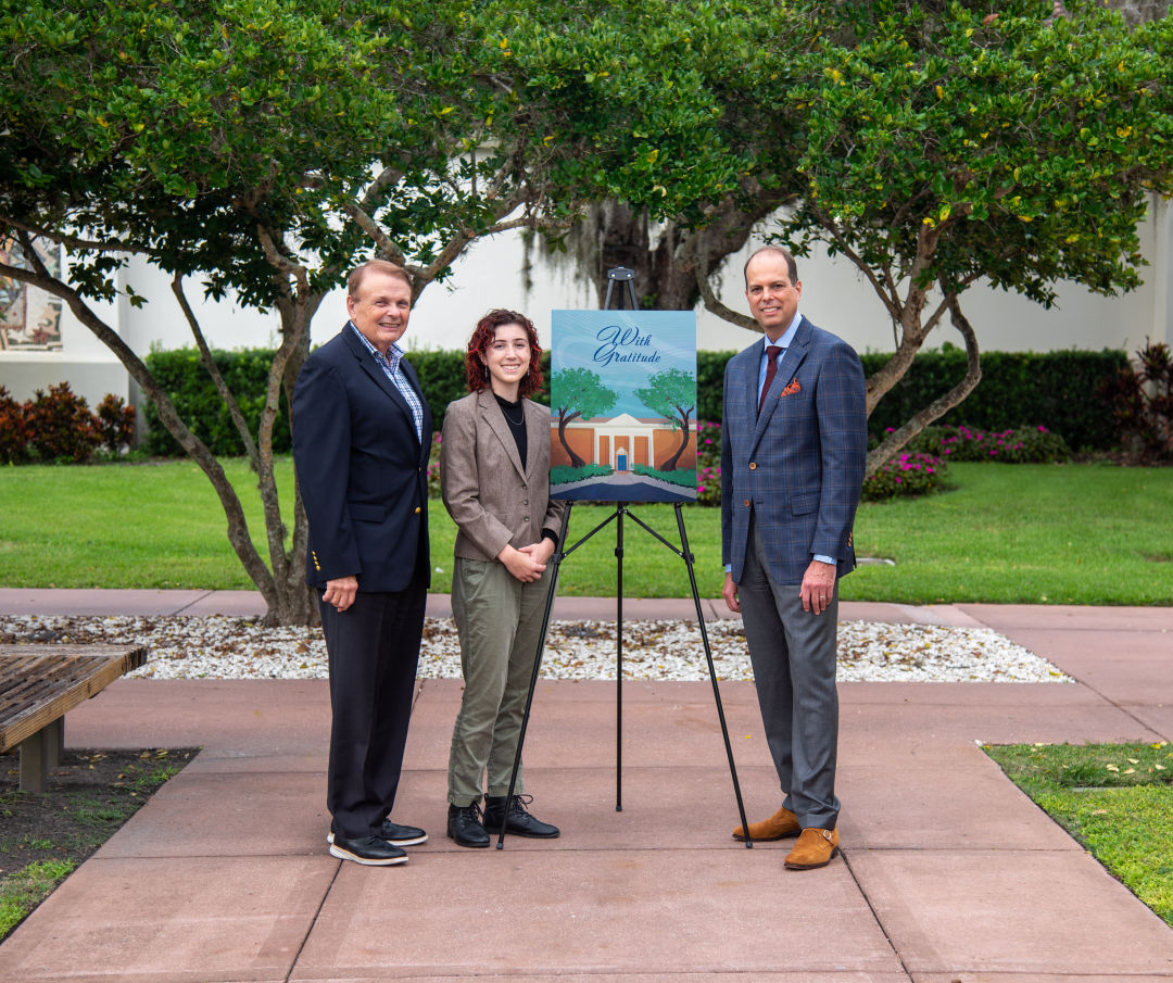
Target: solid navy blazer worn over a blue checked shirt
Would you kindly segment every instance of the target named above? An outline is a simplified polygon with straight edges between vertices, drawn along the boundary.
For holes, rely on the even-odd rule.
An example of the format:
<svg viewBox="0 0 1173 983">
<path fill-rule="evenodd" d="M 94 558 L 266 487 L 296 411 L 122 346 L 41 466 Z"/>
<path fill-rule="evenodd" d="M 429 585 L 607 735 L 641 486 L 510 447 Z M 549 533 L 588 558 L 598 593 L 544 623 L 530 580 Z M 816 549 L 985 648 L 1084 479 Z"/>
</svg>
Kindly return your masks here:
<svg viewBox="0 0 1173 983">
<path fill-rule="evenodd" d="M 357 576 L 361 591 L 405 590 L 428 558 L 432 413 L 407 360 L 399 364 L 423 406 L 412 409 L 354 330 L 305 361 L 293 388 L 293 461 L 310 521 L 306 583 Z"/>
</svg>

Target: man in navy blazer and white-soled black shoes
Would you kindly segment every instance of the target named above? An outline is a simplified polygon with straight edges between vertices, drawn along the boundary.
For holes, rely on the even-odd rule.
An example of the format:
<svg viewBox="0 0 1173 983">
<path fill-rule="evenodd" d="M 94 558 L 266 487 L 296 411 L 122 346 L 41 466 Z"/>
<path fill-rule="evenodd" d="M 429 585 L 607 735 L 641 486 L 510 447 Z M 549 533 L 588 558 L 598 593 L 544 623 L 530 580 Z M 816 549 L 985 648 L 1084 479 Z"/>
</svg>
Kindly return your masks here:
<svg viewBox="0 0 1173 983">
<path fill-rule="evenodd" d="M 310 521 L 306 582 L 320 591 L 333 721 L 330 852 L 405 863 L 427 834 L 392 822 L 428 558 L 432 414 L 395 344 L 412 306 L 408 274 L 372 259 L 347 282 L 350 320 L 313 352 L 293 391 L 293 460 Z"/>
</svg>

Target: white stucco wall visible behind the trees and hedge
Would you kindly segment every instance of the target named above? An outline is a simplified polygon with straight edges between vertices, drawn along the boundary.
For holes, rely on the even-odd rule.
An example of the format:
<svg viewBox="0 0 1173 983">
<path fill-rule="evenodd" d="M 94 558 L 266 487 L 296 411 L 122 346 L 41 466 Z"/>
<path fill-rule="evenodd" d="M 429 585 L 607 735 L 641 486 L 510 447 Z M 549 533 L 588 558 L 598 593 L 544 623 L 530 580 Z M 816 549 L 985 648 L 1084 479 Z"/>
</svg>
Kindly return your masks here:
<svg viewBox="0 0 1173 983">
<path fill-rule="evenodd" d="M 1016 294 L 977 285 L 964 296 L 964 310 L 985 351 L 1051 351 L 1057 348 L 1125 348 L 1135 351 L 1146 338 L 1173 344 L 1173 210 L 1158 202 L 1141 228 L 1144 252 L 1153 265 L 1144 271 L 1140 290 L 1116 298 L 1097 297 L 1074 284 L 1062 284 L 1059 301 L 1044 310 Z M 757 245 L 757 243 L 754 244 Z M 747 246 L 730 258 L 721 276 L 720 294 L 726 304 L 748 313 L 741 285 Z M 595 294 L 585 277 L 569 263 L 551 264 L 537 250 L 531 256 L 533 285 L 527 289 L 527 256 L 520 232 L 476 243 L 455 265 L 445 284 L 433 284 L 420 298 L 404 344 L 408 350 L 460 348 L 473 325 L 490 307 L 511 307 L 528 314 L 549 344 L 550 311 L 592 307 Z M 893 332 L 887 314 L 870 286 L 843 259 L 815 255 L 800 262 L 802 312 L 815 324 L 846 338 L 859 351 L 891 351 Z M 97 305 L 100 313 L 138 353 L 191 344 L 185 320 L 171 294 L 170 278 L 142 263 L 133 263 L 123 283 L 148 303 L 133 307 L 124 298 Z M 240 307 L 231 298 L 205 301 L 197 283 L 188 284 L 188 298 L 213 347 L 238 348 L 274 345 L 274 314 Z M 332 293 L 314 318 L 312 339 L 320 344 L 344 324 L 345 294 Z M 739 350 L 755 333 L 700 310 L 698 344 L 704 350 Z M 930 335 L 929 346 L 961 344 L 948 319 Z M 18 399 L 36 388 L 68 380 L 90 405 L 113 392 L 130 393 L 126 373 L 111 353 L 69 312 L 62 316 L 62 351 L 43 353 L 0 352 L 0 384 Z"/>
</svg>

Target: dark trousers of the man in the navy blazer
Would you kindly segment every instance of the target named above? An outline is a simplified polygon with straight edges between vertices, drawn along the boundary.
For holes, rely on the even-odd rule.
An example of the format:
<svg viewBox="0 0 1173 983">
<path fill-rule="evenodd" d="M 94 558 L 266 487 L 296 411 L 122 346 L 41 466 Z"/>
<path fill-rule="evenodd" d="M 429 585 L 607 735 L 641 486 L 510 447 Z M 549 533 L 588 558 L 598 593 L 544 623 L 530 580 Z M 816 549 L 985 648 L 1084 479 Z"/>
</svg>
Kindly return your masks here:
<svg viewBox="0 0 1173 983">
<path fill-rule="evenodd" d="M 364 592 L 339 613 L 321 602 L 330 656 L 326 807 L 348 840 L 378 835 L 395 804 L 415 693 L 427 589 Z"/>
</svg>

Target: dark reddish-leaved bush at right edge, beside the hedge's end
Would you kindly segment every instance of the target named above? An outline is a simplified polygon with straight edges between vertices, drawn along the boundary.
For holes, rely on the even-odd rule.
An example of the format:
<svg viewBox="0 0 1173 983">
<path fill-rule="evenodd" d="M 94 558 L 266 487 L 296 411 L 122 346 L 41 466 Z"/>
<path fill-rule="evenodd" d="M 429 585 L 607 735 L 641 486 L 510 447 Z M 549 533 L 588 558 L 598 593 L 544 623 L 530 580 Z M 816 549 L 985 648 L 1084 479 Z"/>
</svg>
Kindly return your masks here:
<svg viewBox="0 0 1173 983">
<path fill-rule="evenodd" d="M 1125 441 L 1143 460 L 1173 460 L 1173 357 L 1169 346 L 1148 343 L 1137 352 L 1140 372 L 1123 366 L 1100 394 Z"/>
</svg>

